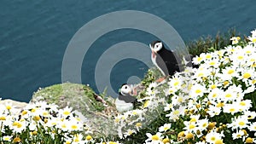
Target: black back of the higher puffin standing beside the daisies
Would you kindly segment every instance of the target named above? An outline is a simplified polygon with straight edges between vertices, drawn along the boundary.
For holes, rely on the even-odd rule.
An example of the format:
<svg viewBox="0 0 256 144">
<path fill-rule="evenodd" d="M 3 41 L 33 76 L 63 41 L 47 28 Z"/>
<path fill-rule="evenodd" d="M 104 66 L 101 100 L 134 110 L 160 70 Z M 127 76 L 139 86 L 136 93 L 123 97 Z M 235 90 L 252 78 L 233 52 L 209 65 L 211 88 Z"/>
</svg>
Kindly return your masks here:
<svg viewBox="0 0 256 144">
<path fill-rule="evenodd" d="M 181 60 L 176 59 L 176 54 L 168 49 L 166 49 L 163 45 L 163 48 L 158 51 L 156 56 L 156 63 L 165 75 L 173 75 L 174 72 L 180 72 L 179 65 L 181 64 Z"/>
</svg>

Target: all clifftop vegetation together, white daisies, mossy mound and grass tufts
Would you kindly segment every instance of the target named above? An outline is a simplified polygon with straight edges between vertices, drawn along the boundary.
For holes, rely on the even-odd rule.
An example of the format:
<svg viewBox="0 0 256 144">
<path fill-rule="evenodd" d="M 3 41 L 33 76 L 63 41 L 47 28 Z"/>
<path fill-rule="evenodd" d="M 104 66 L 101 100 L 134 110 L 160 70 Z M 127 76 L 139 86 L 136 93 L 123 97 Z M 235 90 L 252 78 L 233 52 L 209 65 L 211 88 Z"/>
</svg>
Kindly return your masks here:
<svg viewBox="0 0 256 144">
<path fill-rule="evenodd" d="M 116 112 L 106 93 L 70 83 L 39 89 L 19 116 L 15 107 L 0 106 L 0 143 L 253 143 L 256 32 L 250 41 L 237 36 L 232 29 L 187 43 L 204 67 L 192 74 L 177 72 L 157 84 L 160 71 L 149 69 L 139 84 L 139 104 L 129 112 Z"/>
</svg>

